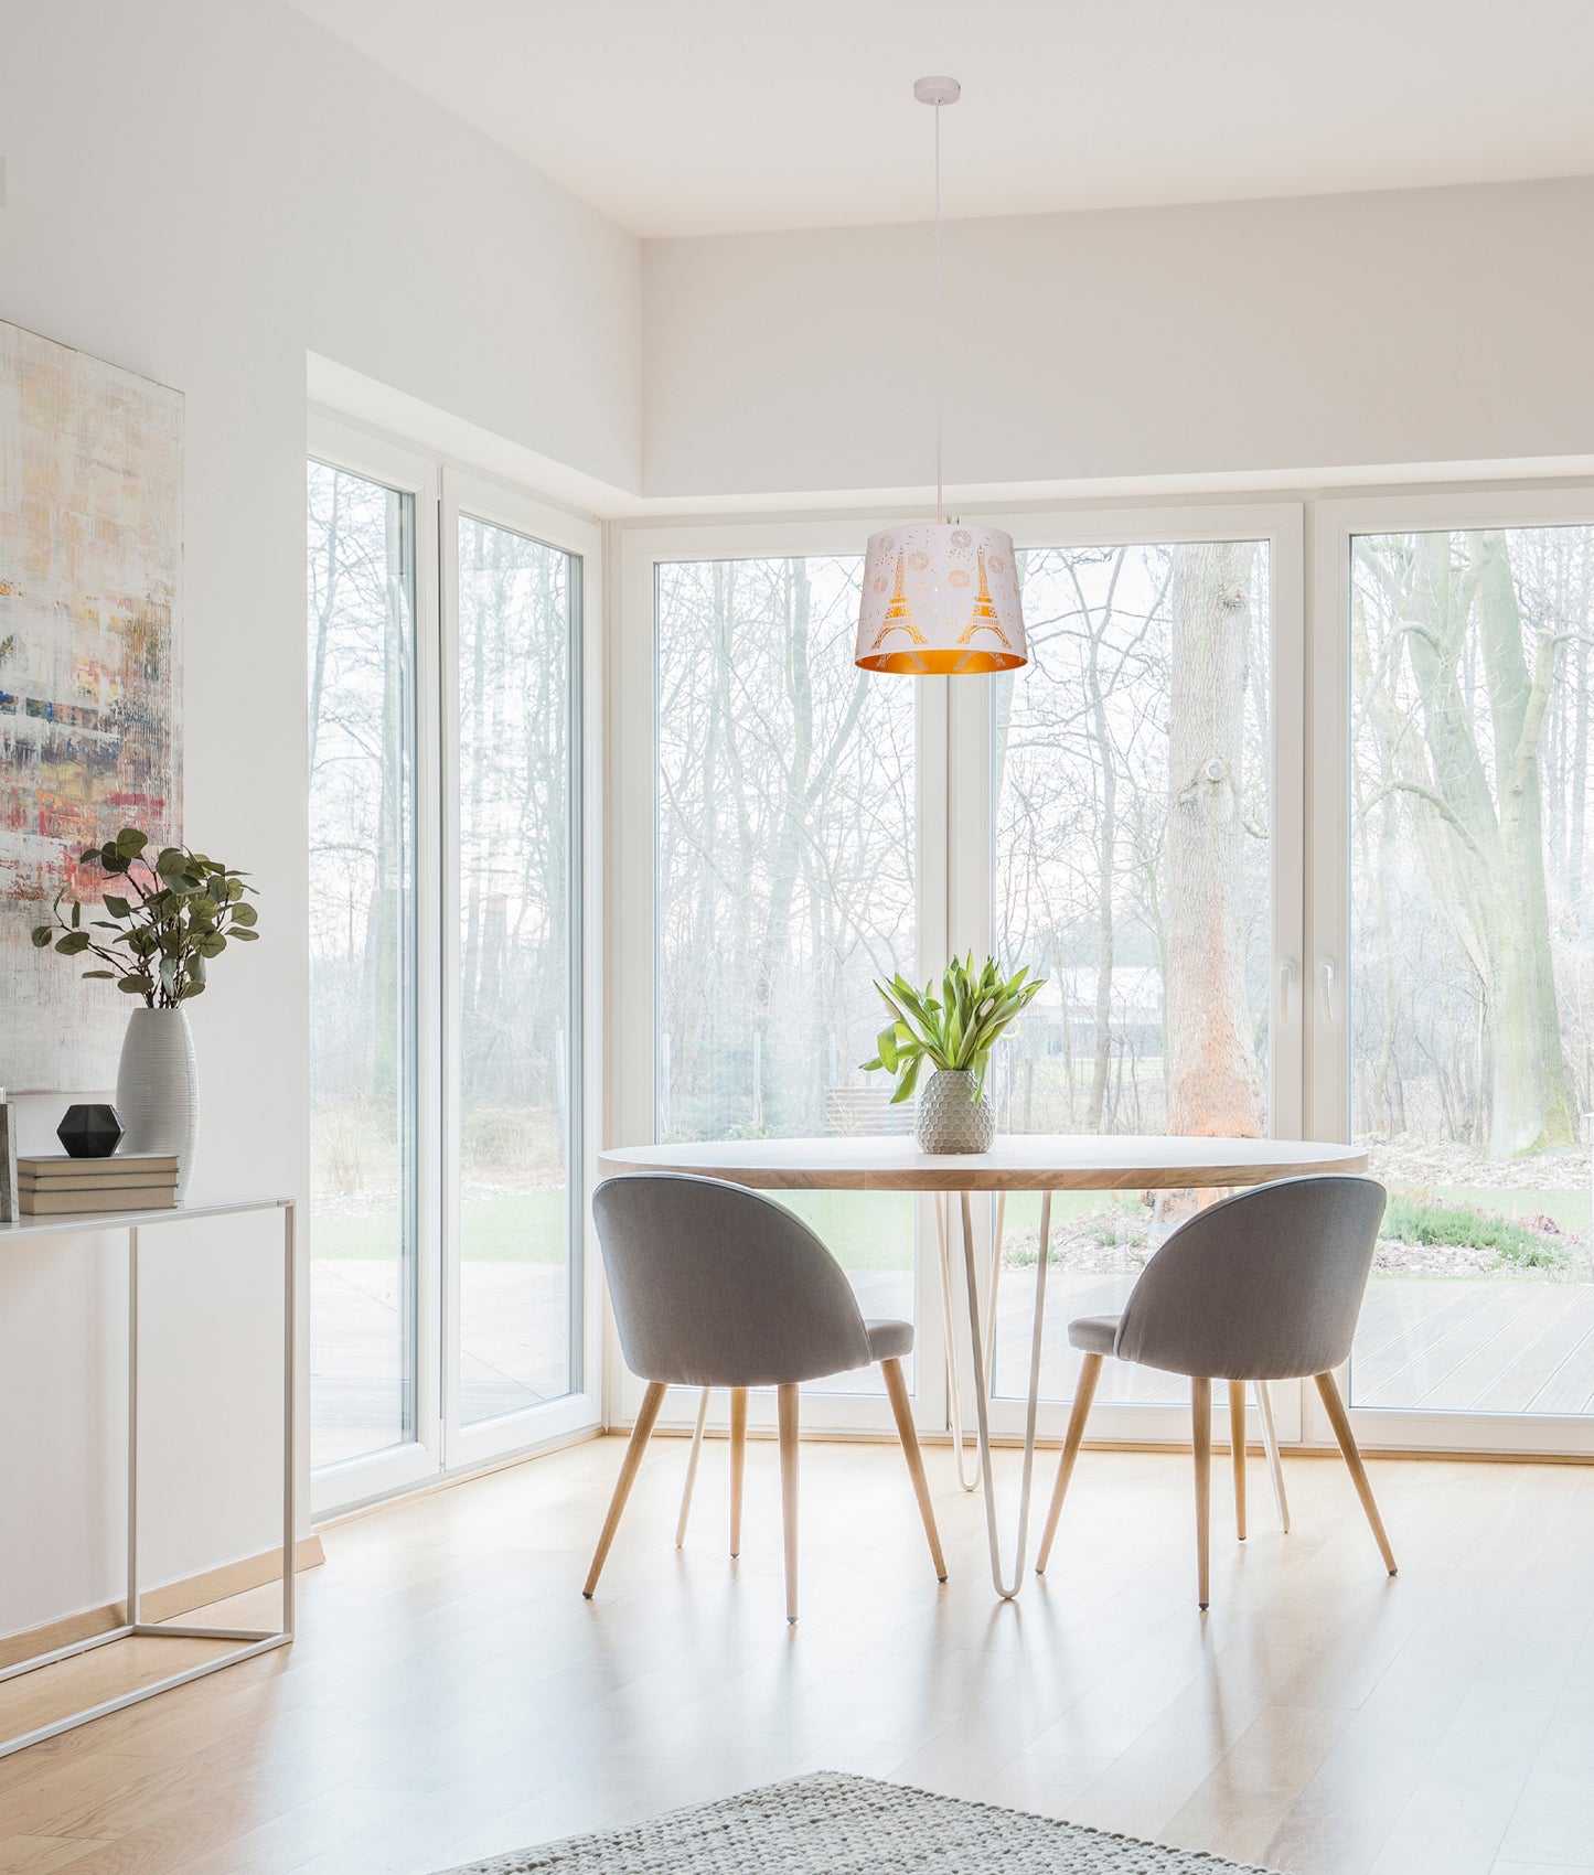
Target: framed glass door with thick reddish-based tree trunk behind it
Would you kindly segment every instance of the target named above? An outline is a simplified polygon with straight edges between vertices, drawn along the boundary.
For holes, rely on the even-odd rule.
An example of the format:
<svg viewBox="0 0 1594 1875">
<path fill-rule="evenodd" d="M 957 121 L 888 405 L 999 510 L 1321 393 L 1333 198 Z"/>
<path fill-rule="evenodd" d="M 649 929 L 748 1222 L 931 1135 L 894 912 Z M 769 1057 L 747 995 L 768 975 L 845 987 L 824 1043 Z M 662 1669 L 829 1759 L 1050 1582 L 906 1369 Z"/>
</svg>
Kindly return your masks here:
<svg viewBox="0 0 1594 1875">
<path fill-rule="evenodd" d="M 1045 979 L 998 1052 L 998 1125 L 1292 1136 L 1300 512 L 1211 510 L 1196 519 L 1200 536 L 1191 516 L 1136 519 L 1078 544 L 1015 523 L 1033 542 L 1018 555 L 1031 662 L 985 681 L 985 748 L 973 752 L 988 774 L 985 848 L 970 836 L 970 878 L 955 879 L 1003 966 Z M 1146 1260 L 1210 1196 L 1054 1198 L 1046 1421 L 1075 1391 L 1069 1320 L 1121 1311 Z M 1001 1232 L 996 1423 L 1013 1431 L 1030 1378 L 1041 1202 L 1015 1194 L 990 1211 L 986 1228 Z M 1298 1389 L 1277 1389 L 1277 1410 L 1294 1436 Z M 1093 1431 L 1183 1440 L 1189 1388 L 1108 1363 Z"/>
</svg>

